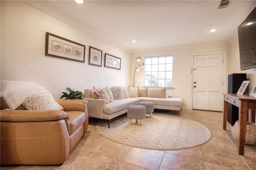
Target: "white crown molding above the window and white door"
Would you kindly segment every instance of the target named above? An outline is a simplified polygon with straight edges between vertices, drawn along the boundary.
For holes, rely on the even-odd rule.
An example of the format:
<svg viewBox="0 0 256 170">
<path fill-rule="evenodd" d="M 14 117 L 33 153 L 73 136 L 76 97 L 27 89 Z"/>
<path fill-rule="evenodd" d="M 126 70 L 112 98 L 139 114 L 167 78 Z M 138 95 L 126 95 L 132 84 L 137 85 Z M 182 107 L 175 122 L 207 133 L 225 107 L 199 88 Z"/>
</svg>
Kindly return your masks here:
<svg viewBox="0 0 256 170">
<path fill-rule="evenodd" d="M 157 47 L 157 48 L 147 48 L 147 49 L 135 49 L 132 50 L 134 52 L 142 52 L 142 51 L 154 51 L 154 50 L 184 50 L 186 49 L 197 49 L 197 48 L 204 48 L 204 47 L 211 47 L 213 45 L 222 45 L 222 46 L 229 46 L 230 44 L 228 41 L 220 41 L 220 42 L 208 42 L 208 43 L 195 43 L 195 44 L 186 44 L 186 45 L 176 45 L 176 46 L 169 46 L 169 47 Z"/>
</svg>

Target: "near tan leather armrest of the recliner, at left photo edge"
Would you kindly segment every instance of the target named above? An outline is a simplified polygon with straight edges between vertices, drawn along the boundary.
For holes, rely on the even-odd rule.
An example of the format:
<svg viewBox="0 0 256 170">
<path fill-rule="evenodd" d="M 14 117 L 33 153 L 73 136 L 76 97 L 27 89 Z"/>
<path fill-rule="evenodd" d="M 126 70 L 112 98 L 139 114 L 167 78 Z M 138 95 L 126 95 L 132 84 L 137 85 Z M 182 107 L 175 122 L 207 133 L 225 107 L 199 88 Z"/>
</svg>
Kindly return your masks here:
<svg viewBox="0 0 256 170">
<path fill-rule="evenodd" d="M 1 110 L 0 121 L 4 122 L 43 122 L 66 119 L 69 116 L 62 110 Z"/>
</svg>

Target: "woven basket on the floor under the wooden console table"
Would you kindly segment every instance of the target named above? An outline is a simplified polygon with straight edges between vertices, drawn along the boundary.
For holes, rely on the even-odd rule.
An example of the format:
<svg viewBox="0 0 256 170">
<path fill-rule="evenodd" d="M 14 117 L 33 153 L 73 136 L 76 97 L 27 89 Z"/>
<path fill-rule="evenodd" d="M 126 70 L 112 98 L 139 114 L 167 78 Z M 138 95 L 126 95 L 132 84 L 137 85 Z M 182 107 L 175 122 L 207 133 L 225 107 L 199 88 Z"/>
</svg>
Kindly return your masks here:
<svg viewBox="0 0 256 170">
<path fill-rule="evenodd" d="M 238 121 L 232 127 L 231 132 L 236 141 L 238 141 Z M 245 144 L 256 144 L 256 125 L 254 123 L 246 123 Z"/>
</svg>

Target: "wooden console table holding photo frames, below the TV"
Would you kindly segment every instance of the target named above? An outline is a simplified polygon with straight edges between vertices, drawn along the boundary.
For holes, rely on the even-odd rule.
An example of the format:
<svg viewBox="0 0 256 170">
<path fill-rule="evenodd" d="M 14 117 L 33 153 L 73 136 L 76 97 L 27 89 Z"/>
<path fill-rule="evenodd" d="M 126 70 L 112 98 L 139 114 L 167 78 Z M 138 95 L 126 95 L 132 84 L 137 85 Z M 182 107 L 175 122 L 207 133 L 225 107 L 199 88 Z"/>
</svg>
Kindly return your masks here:
<svg viewBox="0 0 256 170">
<path fill-rule="evenodd" d="M 228 103 L 239 108 L 238 115 L 238 154 L 244 155 L 244 141 L 246 133 L 246 122 L 248 110 L 252 110 L 252 119 L 255 123 L 256 98 L 249 95 L 238 95 L 223 93 L 224 108 L 223 108 L 223 129 L 226 130 L 228 117 Z"/>
</svg>

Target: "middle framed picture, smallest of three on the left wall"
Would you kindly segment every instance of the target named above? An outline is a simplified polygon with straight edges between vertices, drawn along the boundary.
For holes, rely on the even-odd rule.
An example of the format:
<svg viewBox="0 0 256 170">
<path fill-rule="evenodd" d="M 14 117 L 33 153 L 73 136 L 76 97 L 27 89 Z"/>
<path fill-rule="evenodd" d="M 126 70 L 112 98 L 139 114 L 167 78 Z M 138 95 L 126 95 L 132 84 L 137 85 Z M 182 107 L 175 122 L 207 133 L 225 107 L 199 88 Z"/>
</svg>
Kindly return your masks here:
<svg viewBox="0 0 256 170">
<path fill-rule="evenodd" d="M 89 64 L 102 67 L 102 50 L 89 47 Z"/>
</svg>

